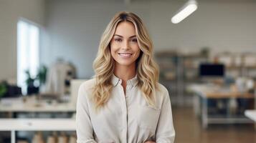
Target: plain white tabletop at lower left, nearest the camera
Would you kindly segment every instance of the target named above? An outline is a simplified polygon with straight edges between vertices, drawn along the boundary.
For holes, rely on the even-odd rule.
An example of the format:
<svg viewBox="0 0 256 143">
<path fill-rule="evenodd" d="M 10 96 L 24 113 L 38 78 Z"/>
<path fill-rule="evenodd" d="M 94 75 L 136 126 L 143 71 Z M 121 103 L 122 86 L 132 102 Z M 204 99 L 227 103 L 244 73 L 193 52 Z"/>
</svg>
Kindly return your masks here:
<svg viewBox="0 0 256 143">
<path fill-rule="evenodd" d="M 75 131 L 75 119 L 0 119 L 0 131 Z"/>
</svg>

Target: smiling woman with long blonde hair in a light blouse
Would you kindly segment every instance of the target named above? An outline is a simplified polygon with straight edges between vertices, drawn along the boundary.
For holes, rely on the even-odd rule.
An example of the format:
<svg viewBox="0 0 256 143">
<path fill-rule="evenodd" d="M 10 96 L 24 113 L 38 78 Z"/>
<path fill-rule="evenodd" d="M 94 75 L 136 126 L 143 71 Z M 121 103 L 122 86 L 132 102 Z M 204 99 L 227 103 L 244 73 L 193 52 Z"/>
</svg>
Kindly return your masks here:
<svg viewBox="0 0 256 143">
<path fill-rule="evenodd" d="M 93 63 L 95 78 L 77 98 L 77 143 L 174 142 L 171 102 L 158 83 L 146 28 L 120 12 L 105 29 Z"/>
</svg>

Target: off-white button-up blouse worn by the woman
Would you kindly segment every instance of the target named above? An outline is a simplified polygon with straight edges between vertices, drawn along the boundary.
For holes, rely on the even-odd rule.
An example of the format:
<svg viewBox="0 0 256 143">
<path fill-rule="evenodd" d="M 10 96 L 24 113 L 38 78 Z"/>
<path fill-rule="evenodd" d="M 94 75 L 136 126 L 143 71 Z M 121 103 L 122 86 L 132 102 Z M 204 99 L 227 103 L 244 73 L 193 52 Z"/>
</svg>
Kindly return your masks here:
<svg viewBox="0 0 256 143">
<path fill-rule="evenodd" d="M 97 113 L 92 91 L 95 79 L 81 84 L 77 97 L 77 143 L 173 143 L 175 137 L 169 93 L 163 85 L 156 92 L 156 108 L 149 107 L 137 86 L 137 77 L 127 81 L 113 75 L 111 97 Z"/>
</svg>

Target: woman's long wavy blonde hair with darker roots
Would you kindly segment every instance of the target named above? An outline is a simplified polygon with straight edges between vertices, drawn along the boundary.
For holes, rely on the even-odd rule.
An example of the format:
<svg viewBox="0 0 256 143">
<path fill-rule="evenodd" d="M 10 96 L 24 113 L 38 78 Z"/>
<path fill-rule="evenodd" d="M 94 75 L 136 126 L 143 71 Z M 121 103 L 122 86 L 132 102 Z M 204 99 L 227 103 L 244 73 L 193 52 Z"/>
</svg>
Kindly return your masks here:
<svg viewBox="0 0 256 143">
<path fill-rule="evenodd" d="M 93 100 L 95 108 L 103 107 L 113 89 L 111 82 L 115 61 L 110 54 L 110 41 L 115 34 L 115 29 L 122 21 L 130 21 L 136 29 L 136 37 L 141 54 L 136 60 L 136 74 L 138 79 L 138 88 L 141 89 L 143 97 L 150 106 L 155 106 L 155 93 L 158 89 L 159 69 L 153 59 L 153 44 L 149 38 L 146 26 L 143 21 L 131 12 L 119 12 L 111 19 L 107 28 L 100 39 L 100 46 L 93 69 L 95 70 L 95 87 L 93 88 Z"/>
</svg>

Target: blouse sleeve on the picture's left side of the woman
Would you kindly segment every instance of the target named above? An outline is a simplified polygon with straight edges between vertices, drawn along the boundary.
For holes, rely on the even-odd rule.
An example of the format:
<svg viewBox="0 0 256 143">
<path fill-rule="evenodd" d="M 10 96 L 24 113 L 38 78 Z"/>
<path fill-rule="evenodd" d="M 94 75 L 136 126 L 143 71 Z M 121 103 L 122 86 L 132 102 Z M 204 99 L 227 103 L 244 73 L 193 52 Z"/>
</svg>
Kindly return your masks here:
<svg viewBox="0 0 256 143">
<path fill-rule="evenodd" d="M 93 138 L 93 126 L 90 121 L 90 113 L 87 105 L 87 93 L 85 92 L 84 86 L 85 84 L 80 86 L 77 97 L 77 143 L 96 143 Z"/>
</svg>

